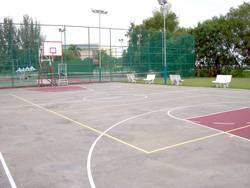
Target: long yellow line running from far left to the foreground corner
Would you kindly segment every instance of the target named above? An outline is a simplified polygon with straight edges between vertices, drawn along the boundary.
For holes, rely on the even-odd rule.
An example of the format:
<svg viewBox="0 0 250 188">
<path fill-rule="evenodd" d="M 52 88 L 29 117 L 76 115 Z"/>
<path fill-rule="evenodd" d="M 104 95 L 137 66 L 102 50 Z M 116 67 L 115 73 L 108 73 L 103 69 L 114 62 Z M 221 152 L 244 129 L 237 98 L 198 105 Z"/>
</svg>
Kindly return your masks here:
<svg viewBox="0 0 250 188">
<path fill-rule="evenodd" d="M 63 119 L 66 119 L 66 120 L 68 120 L 68 121 L 71 121 L 71 122 L 73 122 L 73 123 L 75 123 L 75 124 L 77 124 L 77 125 L 79 125 L 79 126 L 81 126 L 81 127 L 84 127 L 84 128 L 86 128 L 86 129 L 89 129 L 89 130 L 91 130 L 91 131 L 93 131 L 93 132 L 95 132 L 95 133 L 98 133 L 98 134 L 102 134 L 102 133 L 103 133 L 102 131 L 100 131 L 100 130 L 98 130 L 98 129 L 95 129 L 95 128 L 93 128 L 93 127 L 87 126 L 87 125 L 85 125 L 85 124 L 83 124 L 83 123 L 81 123 L 81 122 L 79 122 L 79 121 L 73 120 L 73 119 L 71 119 L 71 118 L 69 118 L 69 117 L 67 117 L 67 116 L 65 116 L 65 115 L 63 115 L 63 114 L 60 114 L 60 113 L 58 113 L 58 112 L 56 112 L 56 111 L 50 110 L 50 109 L 48 109 L 48 108 L 45 108 L 45 107 L 43 107 L 43 106 L 41 106 L 41 105 L 39 105 L 39 104 L 36 104 L 36 103 L 34 103 L 34 102 L 31 102 L 31 101 L 29 101 L 29 100 L 27 100 L 27 99 L 25 99 L 25 98 L 19 97 L 19 96 L 14 95 L 14 94 L 10 94 L 10 95 L 11 95 L 12 97 L 14 97 L 14 98 L 17 98 L 17 99 L 19 99 L 19 100 L 21 100 L 21 101 L 24 101 L 25 103 L 31 104 L 31 105 L 33 105 L 33 106 L 35 106 L 35 107 L 37 107 L 37 108 L 40 108 L 40 109 L 42 109 L 42 110 L 44 110 L 44 111 L 50 112 L 50 113 L 52 113 L 52 114 L 54 114 L 54 115 L 56 115 L 56 116 L 59 116 L 59 117 L 61 117 L 61 118 L 63 118 Z M 146 154 L 149 153 L 149 151 L 147 151 L 147 150 L 145 150 L 145 149 L 142 149 L 142 148 L 140 148 L 140 147 L 137 147 L 137 146 L 135 146 L 135 145 L 132 145 L 132 144 L 130 144 L 130 143 L 128 143 L 128 142 L 125 142 L 125 141 L 123 141 L 123 140 L 121 140 L 121 139 L 119 139 L 119 138 L 116 138 L 116 137 L 114 137 L 114 136 L 111 136 L 111 135 L 109 135 L 109 134 L 107 134 L 107 133 L 105 133 L 104 136 L 106 136 L 106 137 L 108 137 L 108 138 L 110 138 L 110 139 L 112 139 L 112 140 L 115 140 L 115 141 L 117 141 L 117 142 L 119 142 L 119 143 L 122 143 L 122 144 L 124 144 L 124 145 L 126 145 L 126 146 L 129 146 L 129 147 L 131 147 L 131 148 L 134 148 L 134 149 L 136 149 L 136 150 L 138 150 L 138 151 L 140 151 L 140 152 L 143 152 L 143 153 L 146 153 Z"/>
</svg>

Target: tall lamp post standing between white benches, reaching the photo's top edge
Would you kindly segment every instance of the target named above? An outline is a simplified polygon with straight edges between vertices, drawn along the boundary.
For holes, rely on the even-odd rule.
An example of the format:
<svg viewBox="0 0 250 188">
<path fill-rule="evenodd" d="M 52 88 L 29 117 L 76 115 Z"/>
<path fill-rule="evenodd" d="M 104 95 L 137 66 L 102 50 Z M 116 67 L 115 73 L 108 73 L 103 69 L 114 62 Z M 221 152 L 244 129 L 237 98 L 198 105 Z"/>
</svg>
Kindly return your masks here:
<svg viewBox="0 0 250 188">
<path fill-rule="evenodd" d="M 158 0 L 158 3 L 160 4 L 162 8 L 162 13 L 163 13 L 164 84 L 167 85 L 167 52 L 166 52 L 166 21 L 165 20 L 166 20 L 168 1 Z"/>
</svg>

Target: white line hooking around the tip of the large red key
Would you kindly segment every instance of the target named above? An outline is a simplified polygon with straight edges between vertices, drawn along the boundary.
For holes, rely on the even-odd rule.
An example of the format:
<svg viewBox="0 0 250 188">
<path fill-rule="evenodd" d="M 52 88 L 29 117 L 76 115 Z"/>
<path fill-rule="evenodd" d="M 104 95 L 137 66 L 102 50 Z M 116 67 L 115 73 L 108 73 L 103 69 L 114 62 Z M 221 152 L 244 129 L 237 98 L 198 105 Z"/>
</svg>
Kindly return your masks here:
<svg viewBox="0 0 250 188">
<path fill-rule="evenodd" d="M 237 103 L 237 102 L 222 102 L 222 103 L 204 103 L 204 104 L 202 104 L 202 105 L 212 105 L 212 104 L 231 104 L 231 103 Z M 208 127 L 208 126 L 205 126 L 205 125 L 202 125 L 202 124 L 199 124 L 199 123 L 195 123 L 195 122 L 193 122 L 193 121 L 191 121 L 191 120 L 188 120 L 188 119 L 183 119 L 183 118 L 180 118 L 180 117 L 177 117 L 177 116 L 174 116 L 174 115 L 172 115 L 171 113 L 173 112 L 173 111 L 175 111 L 175 110 L 179 110 L 179 109 L 184 109 L 184 108 L 189 108 L 189 107 L 194 107 L 194 106 L 200 106 L 201 104 L 198 104 L 198 105 L 188 105 L 188 106 L 179 106 L 179 107 L 175 107 L 175 108 L 172 108 L 172 109 L 170 109 L 170 110 L 168 110 L 168 112 L 167 112 L 167 115 L 169 116 L 169 117 L 171 117 L 171 118 L 173 118 L 173 119 L 176 119 L 176 120 L 179 120 L 179 121 L 184 121 L 184 122 L 187 122 L 187 123 L 191 123 L 191 124 L 194 124 L 194 125 L 198 125 L 198 126 L 200 126 L 200 127 L 204 127 L 204 128 L 206 128 L 206 129 L 210 129 L 210 130 L 214 130 L 214 131 L 217 131 L 217 132 L 224 132 L 224 134 L 227 134 L 227 135 L 229 135 L 229 136 L 232 136 L 233 135 L 233 137 L 237 137 L 237 138 L 240 138 L 240 139 L 242 139 L 242 140 L 246 140 L 246 141 L 250 141 L 249 139 L 247 139 L 247 138 L 244 138 L 244 137 L 241 137 L 241 136 L 238 136 L 238 135 L 234 135 L 234 134 L 232 134 L 232 133 L 230 133 L 230 132 L 225 132 L 225 131 L 221 131 L 221 130 L 219 130 L 219 129 L 215 129 L 215 128 L 212 128 L 212 127 Z"/>
</svg>

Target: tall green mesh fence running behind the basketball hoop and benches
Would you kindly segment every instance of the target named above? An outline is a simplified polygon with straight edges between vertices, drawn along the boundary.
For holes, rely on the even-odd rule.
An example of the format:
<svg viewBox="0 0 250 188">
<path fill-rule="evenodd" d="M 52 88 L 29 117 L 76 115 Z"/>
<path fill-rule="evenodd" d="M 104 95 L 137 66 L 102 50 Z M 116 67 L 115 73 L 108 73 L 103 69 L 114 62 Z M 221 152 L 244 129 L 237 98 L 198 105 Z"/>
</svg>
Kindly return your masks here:
<svg viewBox="0 0 250 188">
<path fill-rule="evenodd" d="M 0 26 L 0 29 L 3 28 L 3 24 Z M 24 45 L 18 39 L 18 30 L 21 26 L 17 24 L 13 27 L 15 27 L 16 34 L 8 36 L 8 41 L 4 43 L 1 41 L 3 32 L 0 30 L 0 87 L 35 86 L 40 69 L 39 48 L 44 39 L 34 37 Z M 49 29 L 58 32 L 58 27 L 61 26 L 41 25 L 39 33 L 49 33 Z M 102 38 L 106 42 L 102 41 L 102 45 L 99 46 L 97 40 L 99 28 L 63 27 L 65 28 L 64 37 L 67 36 L 67 40 L 63 38 L 63 35 L 59 39 L 63 44 L 63 57 L 55 58 L 52 63 L 54 67 L 52 74 L 55 78 L 58 77 L 58 64 L 63 62 L 67 64 L 69 83 L 126 81 L 127 73 L 134 73 L 138 78 L 144 78 L 148 73 L 155 73 L 156 79 L 163 79 L 162 32 L 130 31 L 128 34 L 128 30 L 101 28 L 104 33 Z M 79 41 L 77 39 L 71 41 L 71 36 L 75 36 L 77 32 Z M 117 33 L 125 38 L 119 39 L 120 42 L 124 42 L 123 44 L 114 42 L 118 41 Z M 193 76 L 194 38 L 191 35 L 171 36 L 167 34 L 166 57 L 167 75 Z M 48 64 L 48 62 L 45 63 Z M 30 67 L 35 70 L 27 71 Z M 51 72 L 48 71 L 47 77 L 50 76 Z"/>
</svg>

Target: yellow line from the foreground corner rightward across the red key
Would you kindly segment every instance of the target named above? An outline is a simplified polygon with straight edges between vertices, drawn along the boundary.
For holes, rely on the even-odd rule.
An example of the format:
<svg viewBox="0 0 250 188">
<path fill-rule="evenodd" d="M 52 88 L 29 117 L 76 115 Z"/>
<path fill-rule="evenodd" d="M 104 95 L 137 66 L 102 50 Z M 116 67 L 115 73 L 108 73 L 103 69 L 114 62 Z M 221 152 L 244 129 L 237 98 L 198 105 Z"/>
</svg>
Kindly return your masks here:
<svg viewBox="0 0 250 188">
<path fill-rule="evenodd" d="M 149 152 L 149 154 L 160 152 L 160 151 L 165 151 L 165 150 L 172 149 L 172 148 L 177 148 L 177 147 L 180 147 L 180 146 L 183 146 L 183 145 L 186 145 L 186 144 L 206 140 L 208 138 L 212 138 L 212 137 L 219 136 L 219 135 L 222 135 L 222 134 L 226 134 L 226 133 L 234 132 L 234 131 L 237 131 L 237 130 L 245 129 L 247 127 L 250 127 L 250 125 L 246 125 L 246 126 L 238 127 L 238 128 L 231 129 L 231 130 L 228 130 L 228 131 L 223 131 L 223 132 L 211 134 L 211 135 L 208 135 L 208 136 L 203 136 L 203 137 L 200 137 L 200 138 L 187 140 L 187 141 L 184 141 L 184 142 L 180 142 L 180 143 L 177 143 L 177 144 L 173 144 L 173 145 L 170 145 L 170 146 L 166 146 L 166 147 L 163 147 L 163 148 L 152 150 L 152 151 Z"/>
</svg>

